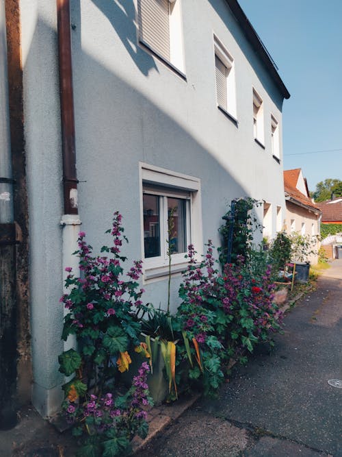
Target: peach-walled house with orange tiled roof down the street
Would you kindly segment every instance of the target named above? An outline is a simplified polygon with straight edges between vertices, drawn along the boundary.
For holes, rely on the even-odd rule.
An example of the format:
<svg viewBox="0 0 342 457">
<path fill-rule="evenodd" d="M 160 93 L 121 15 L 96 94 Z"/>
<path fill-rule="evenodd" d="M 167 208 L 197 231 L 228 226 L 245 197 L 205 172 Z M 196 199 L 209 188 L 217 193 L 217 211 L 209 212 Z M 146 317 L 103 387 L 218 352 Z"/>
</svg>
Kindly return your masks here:
<svg viewBox="0 0 342 457">
<path fill-rule="evenodd" d="M 286 200 L 286 232 L 298 232 L 304 236 L 319 235 L 321 211 L 310 197 L 306 178 L 301 169 L 284 171 L 284 189 Z M 316 247 L 319 242 L 317 238 Z M 311 262 L 317 263 L 317 255 L 311 256 Z"/>
</svg>

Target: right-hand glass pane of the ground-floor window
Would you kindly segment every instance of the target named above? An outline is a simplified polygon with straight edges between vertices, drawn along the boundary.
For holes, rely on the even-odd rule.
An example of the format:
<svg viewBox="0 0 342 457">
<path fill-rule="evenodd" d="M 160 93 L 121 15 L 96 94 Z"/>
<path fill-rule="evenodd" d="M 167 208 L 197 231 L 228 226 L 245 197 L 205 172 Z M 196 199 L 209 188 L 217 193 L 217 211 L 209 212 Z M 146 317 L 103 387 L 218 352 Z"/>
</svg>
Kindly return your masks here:
<svg viewBox="0 0 342 457">
<path fill-rule="evenodd" d="M 186 252 L 186 200 L 168 197 L 168 217 L 172 221 L 172 232 L 170 236 L 172 254 Z"/>
</svg>

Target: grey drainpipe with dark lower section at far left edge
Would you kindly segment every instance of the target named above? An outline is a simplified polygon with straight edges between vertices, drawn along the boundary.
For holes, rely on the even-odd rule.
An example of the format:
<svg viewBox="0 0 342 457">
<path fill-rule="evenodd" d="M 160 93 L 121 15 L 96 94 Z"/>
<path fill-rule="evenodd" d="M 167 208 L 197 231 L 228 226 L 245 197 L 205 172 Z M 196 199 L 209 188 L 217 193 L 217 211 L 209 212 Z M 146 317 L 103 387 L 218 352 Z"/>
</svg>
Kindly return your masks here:
<svg viewBox="0 0 342 457">
<path fill-rule="evenodd" d="M 0 430 L 16 423 L 16 234 L 5 3 L 0 0 Z"/>
</svg>

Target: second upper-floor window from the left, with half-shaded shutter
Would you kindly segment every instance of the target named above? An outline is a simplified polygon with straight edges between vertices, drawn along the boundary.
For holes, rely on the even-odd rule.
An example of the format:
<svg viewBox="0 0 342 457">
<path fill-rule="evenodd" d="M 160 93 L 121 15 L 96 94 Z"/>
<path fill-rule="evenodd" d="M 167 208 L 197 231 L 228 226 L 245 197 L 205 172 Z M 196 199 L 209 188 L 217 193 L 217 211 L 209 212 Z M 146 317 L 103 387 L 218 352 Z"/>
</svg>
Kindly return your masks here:
<svg viewBox="0 0 342 457">
<path fill-rule="evenodd" d="M 218 106 L 236 119 L 235 68 L 231 55 L 214 37 L 216 100 Z"/>
</svg>

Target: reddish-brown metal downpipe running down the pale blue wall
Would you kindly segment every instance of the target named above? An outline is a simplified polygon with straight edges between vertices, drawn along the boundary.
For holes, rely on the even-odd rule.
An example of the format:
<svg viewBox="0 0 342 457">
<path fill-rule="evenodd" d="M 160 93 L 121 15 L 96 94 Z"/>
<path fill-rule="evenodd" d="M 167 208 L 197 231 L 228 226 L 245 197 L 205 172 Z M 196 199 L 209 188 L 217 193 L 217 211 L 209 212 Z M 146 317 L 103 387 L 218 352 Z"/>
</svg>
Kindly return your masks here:
<svg viewBox="0 0 342 457">
<path fill-rule="evenodd" d="M 69 0 L 56 1 L 60 69 L 64 214 L 78 214 L 70 4 Z"/>
</svg>

